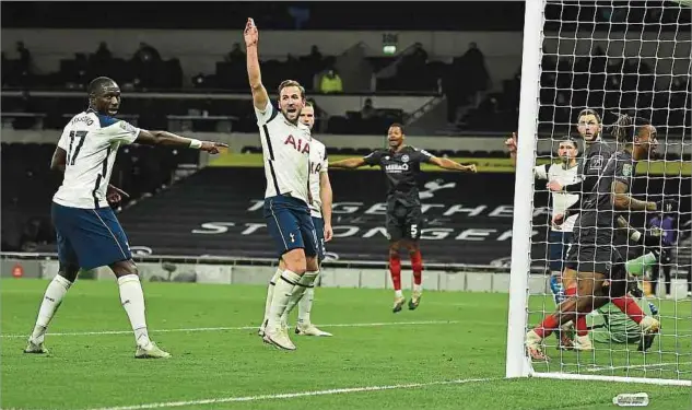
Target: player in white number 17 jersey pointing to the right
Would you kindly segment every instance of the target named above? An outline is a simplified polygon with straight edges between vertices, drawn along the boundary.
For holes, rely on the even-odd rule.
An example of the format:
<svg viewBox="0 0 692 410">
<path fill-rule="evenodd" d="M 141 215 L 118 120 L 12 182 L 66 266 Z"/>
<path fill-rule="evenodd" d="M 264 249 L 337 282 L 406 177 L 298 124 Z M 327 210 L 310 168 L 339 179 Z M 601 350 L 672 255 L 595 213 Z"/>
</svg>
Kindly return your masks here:
<svg viewBox="0 0 692 410">
<path fill-rule="evenodd" d="M 109 202 L 126 195 L 110 185 L 110 173 L 120 145 L 130 143 L 191 148 L 215 154 L 226 144 L 148 131 L 115 118 L 120 108 L 120 87 L 99 77 L 87 87 L 89 109 L 72 117 L 52 154 L 50 168 L 63 174 L 52 197 L 51 216 L 58 238 L 58 274 L 46 289 L 38 318 L 25 353 L 47 353 L 48 324 L 81 269 L 107 266 L 115 273 L 120 302 L 137 343 L 138 359 L 169 358 L 150 340 L 144 315 L 144 294 L 127 237 Z"/>
</svg>

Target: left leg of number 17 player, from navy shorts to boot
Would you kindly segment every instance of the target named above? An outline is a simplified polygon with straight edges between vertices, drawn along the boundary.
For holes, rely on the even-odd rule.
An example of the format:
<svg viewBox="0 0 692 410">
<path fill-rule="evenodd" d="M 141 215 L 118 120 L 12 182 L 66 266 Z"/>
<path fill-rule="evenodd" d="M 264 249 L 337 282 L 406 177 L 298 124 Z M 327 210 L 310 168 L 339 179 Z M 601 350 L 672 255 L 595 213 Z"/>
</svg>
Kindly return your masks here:
<svg viewBox="0 0 692 410">
<path fill-rule="evenodd" d="M 26 349 L 24 349 L 25 353 L 48 352 L 48 350 L 44 348 L 44 339 L 48 330 L 48 324 L 50 324 L 58 307 L 60 307 L 68 290 L 77 280 L 77 274 L 80 270 L 79 259 L 69 239 L 70 236 L 75 233 L 72 223 L 74 214 L 70 212 L 69 208 L 54 203 L 50 209 L 50 216 L 56 229 L 58 260 L 60 261 L 60 266 L 58 268 L 58 274 L 56 274 L 46 288 L 44 298 L 38 308 L 34 330 L 28 338 Z"/>
</svg>

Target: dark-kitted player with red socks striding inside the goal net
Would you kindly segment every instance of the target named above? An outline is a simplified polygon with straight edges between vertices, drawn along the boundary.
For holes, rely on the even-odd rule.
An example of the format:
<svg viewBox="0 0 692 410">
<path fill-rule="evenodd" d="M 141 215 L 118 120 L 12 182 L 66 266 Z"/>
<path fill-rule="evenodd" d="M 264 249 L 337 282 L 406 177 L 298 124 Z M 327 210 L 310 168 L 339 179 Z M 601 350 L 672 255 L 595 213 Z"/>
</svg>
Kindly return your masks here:
<svg viewBox="0 0 692 410">
<path fill-rule="evenodd" d="M 608 159 L 594 190 L 587 192 L 575 225 L 575 242 L 567 254 L 567 267 L 577 272 L 577 293 L 560 304 L 556 312 L 526 335 L 527 353 L 533 360 L 549 360 L 541 342 L 560 325 L 584 317 L 612 302 L 638 324 L 642 333 L 658 331 L 660 324 L 646 316 L 631 296 L 628 297 L 626 267 L 618 251 L 619 214 L 631 211 L 670 211 L 675 200 L 647 202 L 632 198 L 630 187 L 637 161 L 646 161 L 656 149 L 656 128 L 648 121 L 621 116 L 612 129 L 613 137 L 624 144 Z M 629 227 L 632 230 L 631 227 Z M 634 242 L 647 243 L 646 235 L 630 232 Z M 577 321 L 578 324 L 578 321 Z M 579 328 L 577 327 L 577 330 Z M 588 335 L 579 335 L 579 343 L 590 344 Z"/>
</svg>

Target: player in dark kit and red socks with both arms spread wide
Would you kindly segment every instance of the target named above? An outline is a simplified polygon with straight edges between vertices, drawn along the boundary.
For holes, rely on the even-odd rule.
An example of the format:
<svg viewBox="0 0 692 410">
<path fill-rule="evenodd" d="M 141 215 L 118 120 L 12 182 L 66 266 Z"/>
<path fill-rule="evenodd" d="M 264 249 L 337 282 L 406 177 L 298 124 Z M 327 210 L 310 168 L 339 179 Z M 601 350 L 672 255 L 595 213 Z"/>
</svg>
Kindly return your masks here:
<svg viewBox="0 0 692 410">
<path fill-rule="evenodd" d="M 403 126 L 392 124 L 387 131 L 388 150 L 375 150 L 364 157 L 337 161 L 332 168 L 357 168 L 364 165 L 379 165 L 387 176 L 387 219 L 386 229 L 389 239 L 389 272 L 395 289 L 392 311 L 400 312 L 406 303 L 401 292 L 401 259 L 399 250 L 403 246 L 409 251 L 413 269 L 413 292 L 409 309 L 415 309 L 423 292 L 423 258 L 419 239 L 423 223 L 421 199 L 418 190 L 418 176 L 422 163 L 431 163 L 441 168 L 476 173 L 476 165 L 461 165 L 448 159 L 441 159 L 424 150 L 406 145 Z"/>
</svg>

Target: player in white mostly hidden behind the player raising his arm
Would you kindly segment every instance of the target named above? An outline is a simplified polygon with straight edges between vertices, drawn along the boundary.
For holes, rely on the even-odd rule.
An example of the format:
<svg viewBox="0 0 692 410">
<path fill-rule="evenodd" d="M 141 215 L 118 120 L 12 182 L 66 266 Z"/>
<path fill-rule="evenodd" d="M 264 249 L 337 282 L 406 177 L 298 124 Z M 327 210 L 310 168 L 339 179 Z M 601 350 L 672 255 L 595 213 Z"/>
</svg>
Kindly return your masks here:
<svg viewBox="0 0 692 410">
<path fill-rule="evenodd" d="M 315 125 L 315 107 L 310 102 L 305 103 L 305 107 L 301 110 L 300 120 L 302 124 L 313 129 Z M 325 258 L 325 243 L 331 241 L 333 231 L 331 229 L 331 202 L 332 191 L 327 169 L 329 162 L 327 160 L 327 149 L 325 144 L 313 138 L 310 143 L 310 194 L 313 202 L 309 203 L 315 233 L 317 234 L 317 254 L 319 262 Z M 267 289 L 267 302 L 265 303 L 265 323 L 269 317 L 269 307 L 274 292 L 277 280 L 281 272 L 285 270 L 283 260 L 279 261 L 279 269 L 269 282 Z M 313 300 L 315 297 L 315 286 L 312 285 L 305 290 L 305 294 L 298 301 L 298 321 L 295 327 L 295 333 L 298 336 L 332 336 L 331 333 L 318 329 L 310 320 L 310 311 L 313 309 Z M 288 312 L 284 312 L 281 318 L 281 326 L 288 327 Z M 263 336 L 265 331 L 260 328 L 259 335 Z"/>
</svg>

